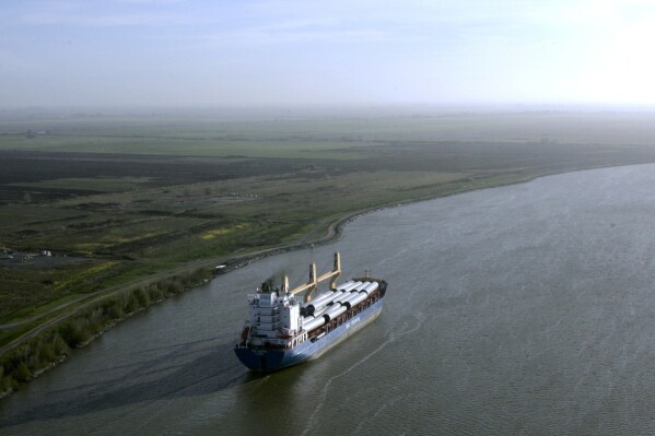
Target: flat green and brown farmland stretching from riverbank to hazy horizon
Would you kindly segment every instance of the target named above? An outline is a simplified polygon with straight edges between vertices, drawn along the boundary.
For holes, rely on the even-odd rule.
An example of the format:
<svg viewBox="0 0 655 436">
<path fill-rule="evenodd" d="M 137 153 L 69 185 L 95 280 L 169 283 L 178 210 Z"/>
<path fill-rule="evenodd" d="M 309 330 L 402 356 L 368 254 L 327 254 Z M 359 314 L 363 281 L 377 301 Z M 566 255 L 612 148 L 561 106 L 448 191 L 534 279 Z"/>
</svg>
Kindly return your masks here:
<svg viewBox="0 0 655 436">
<path fill-rule="evenodd" d="M 316 239 L 356 211 L 655 162 L 653 121 L 651 114 L 416 110 L 4 114 L 0 251 L 50 250 L 67 261 L 0 261 L 0 346 L 25 331 L 22 321 L 37 326 L 85 295 Z M 108 310 L 101 311 L 114 319 Z"/>
</svg>

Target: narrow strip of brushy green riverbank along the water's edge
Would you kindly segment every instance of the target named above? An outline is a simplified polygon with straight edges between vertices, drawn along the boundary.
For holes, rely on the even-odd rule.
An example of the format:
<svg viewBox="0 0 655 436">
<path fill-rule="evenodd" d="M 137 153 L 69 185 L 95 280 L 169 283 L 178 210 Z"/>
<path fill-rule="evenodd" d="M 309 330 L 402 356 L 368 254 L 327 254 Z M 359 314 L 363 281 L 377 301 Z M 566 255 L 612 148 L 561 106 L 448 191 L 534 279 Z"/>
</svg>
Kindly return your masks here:
<svg viewBox="0 0 655 436">
<path fill-rule="evenodd" d="M 578 168 L 562 173 L 584 169 L 595 168 Z M 28 382 L 46 370 L 52 369 L 57 365 L 63 363 L 70 356 L 71 350 L 87 346 L 104 332 L 112 329 L 117 323 L 127 320 L 138 311 L 144 310 L 154 304 L 159 304 L 168 297 L 180 295 L 199 284 L 206 283 L 211 276 L 227 273 L 233 269 L 242 268 L 270 256 L 311 248 L 318 245 L 331 244 L 343 235 L 343 228 L 348 223 L 369 213 L 423 201 L 431 201 L 473 190 L 528 182 L 536 178 L 554 174 L 558 173 L 534 174 L 530 176 L 506 179 L 495 185 L 489 185 L 487 182 L 483 186 L 476 186 L 471 184 L 470 186 L 463 187 L 456 191 L 445 192 L 438 196 L 426 196 L 423 198 L 395 202 L 394 204 L 366 208 L 339 217 L 327 226 L 326 235 L 324 237 L 315 240 L 272 247 L 242 256 L 208 260 L 206 263 L 215 264 L 213 269 L 203 267 L 199 268 L 197 272 L 185 276 L 167 278 L 145 287 L 116 291 L 112 294 L 103 295 L 100 301 L 94 301 L 84 307 L 78 307 L 77 310 L 57 318 L 55 321 L 49 321 L 44 326 L 40 326 L 36 332 L 24 334 L 2 350 L 2 354 L 0 355 L 0 399 L 11 394 L 15 389 L 19 389 L 21 385 Z M 219 266 L 220 268 L 217 268 Z"/>
</svg>

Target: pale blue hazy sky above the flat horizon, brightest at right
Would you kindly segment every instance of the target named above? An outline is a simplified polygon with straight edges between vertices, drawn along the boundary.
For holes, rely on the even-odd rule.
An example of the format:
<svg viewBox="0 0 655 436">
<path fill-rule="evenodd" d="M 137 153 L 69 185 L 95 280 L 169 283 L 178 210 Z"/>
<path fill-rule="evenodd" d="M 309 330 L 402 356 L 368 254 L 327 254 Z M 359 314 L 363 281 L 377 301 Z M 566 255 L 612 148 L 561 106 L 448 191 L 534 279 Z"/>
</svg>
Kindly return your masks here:
<svg viewBox="0 0 655 436">
<path fill-rule="evenodd" d="M 655 105 L 655 1 L 0 1 L 0 107 Z"/>
</svg>

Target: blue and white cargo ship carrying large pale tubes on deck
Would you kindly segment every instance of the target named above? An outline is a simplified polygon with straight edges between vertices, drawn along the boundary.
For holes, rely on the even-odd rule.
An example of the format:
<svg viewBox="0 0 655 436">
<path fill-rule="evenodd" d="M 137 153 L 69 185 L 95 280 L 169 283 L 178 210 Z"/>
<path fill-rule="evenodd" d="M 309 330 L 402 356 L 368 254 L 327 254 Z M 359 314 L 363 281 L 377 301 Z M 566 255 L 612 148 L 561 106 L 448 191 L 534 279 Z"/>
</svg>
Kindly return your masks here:
<svg viewBox="0 0 655 436">
<path fill-rule="evenodd" d="M 324 354 L 373 321 L 384 304 L 387 282 L 366 276 L 337 285 L 341 258 L 321 276 L 309 266 L 309 281 L 293 290 L 266 281 L 248 295 L 248 320 L 234 346 L 238 360 L 256 372 L 273 372 Z M 318 283 L 330 280 L 318 294 Z"/>
</svg>

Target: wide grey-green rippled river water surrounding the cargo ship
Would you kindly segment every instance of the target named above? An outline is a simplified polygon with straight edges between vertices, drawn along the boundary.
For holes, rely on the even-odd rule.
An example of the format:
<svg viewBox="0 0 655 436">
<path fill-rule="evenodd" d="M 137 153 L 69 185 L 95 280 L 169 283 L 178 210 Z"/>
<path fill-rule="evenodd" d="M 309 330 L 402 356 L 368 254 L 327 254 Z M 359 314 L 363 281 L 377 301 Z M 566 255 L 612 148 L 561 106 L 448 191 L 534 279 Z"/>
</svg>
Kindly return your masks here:
<svg viewBox="0 0 655 436">
<path fill-rule="evenodd" d="M 389 282 L 381 317 L 248 373 L 246 294 L 336 250 Z M 122 322 L 0 401 L 0 434 L 655 434 L 654 259 L 655 165 L 372 213 Z"/>
</svg>

